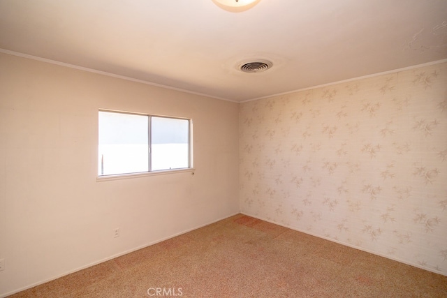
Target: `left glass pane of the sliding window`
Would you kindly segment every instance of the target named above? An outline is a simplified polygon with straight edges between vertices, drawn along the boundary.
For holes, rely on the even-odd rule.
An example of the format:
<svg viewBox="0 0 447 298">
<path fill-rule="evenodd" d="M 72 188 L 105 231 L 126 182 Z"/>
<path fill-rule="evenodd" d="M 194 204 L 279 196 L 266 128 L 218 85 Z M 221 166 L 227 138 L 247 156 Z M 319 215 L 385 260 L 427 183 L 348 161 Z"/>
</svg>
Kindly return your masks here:
<svg viewBox="0 0 447 298">
<path fill-rule="evenodd" d="M 98 175 L 149 171 L 148 117 L 99 112 Z"/>
</svg>

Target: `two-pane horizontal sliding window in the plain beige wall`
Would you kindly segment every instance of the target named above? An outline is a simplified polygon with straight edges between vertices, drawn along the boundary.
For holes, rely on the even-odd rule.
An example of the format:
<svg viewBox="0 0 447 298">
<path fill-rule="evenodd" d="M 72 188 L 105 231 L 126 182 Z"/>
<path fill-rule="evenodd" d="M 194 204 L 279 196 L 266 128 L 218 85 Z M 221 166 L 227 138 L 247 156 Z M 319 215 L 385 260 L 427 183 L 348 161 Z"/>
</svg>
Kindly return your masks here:
<svg viewBox="0 0 447 298">
<path fill-rule="evenodd" d="M 191 120 L 99 111 L 98 176 L 191 167 Z"/>
</svg>

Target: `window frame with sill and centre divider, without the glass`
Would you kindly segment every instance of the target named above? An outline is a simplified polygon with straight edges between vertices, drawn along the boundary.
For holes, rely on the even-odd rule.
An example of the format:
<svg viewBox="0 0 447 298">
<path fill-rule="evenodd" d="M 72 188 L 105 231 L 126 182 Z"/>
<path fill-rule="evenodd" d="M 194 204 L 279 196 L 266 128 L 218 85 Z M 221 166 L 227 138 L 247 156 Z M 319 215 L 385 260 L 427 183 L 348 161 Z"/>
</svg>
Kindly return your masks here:
<svg viewBox="0 0 447 298">
<path fill-rule="evenodd" d="M 148 146 L 149 146 L 149 171 L 147 172 L 131 172 L 131 173 L 122 173 L 122 174 L 105 174 L 100 175 L 98 173 L 98 168 L 96 168 L 96 179 L 97 181 L 105 181 L 105 180 L 113 180 L 113 179 L 126 179 L 131 177 L 141 177 L 141 176 L 149 176 L 154 174 L 170 174 L 170 173 L 178 173 L 178 172 L 193 172 L 195 168 L 193 167 L 193 120 L 191 118 L 184 118 L 184 117 L 173 117 L 173 116 L 166 116 L 166 115 L 159 115 L 159 114 L 146 114 L 146 113 L 138 113 L 138 112 L 125 112 L 125 111 L 119 111 L 119 110 L 106 110 L 106 109 L 99 109 L 98 110 L 98 117 L 99 112 L 111 112 L 111 113 L 117 113 L 117 114 L 130 114 L 130 115 L 138 115 L 138 116 L 146 116 L 148 117 Z M 152 163 L 152 144 L 151 144 L 151 118 L 152 117 L 158 117 L 158 118 L 167 118 L 167 119 L 181 119 L 181 120 L 187 120 L 189 122 L 189 130 L 188 130 L 188 144 L 189 144 L 189 154 L 188 154 L 188 167 L 182 167 L 182 168 L 176 168 L 176 169 L 166 169 L 166 170 L 151 170 L 151 163 Z M 99 121 L 98 121 L 98 137 L 96 138 L 98 141 L 98 146 L 96 147 L 97 150 L 99 150 Z M 96 156 L 98 158 L 99 165 L 101 158 L 99 158 L 99 151 L 96 152 Z"/>
</svg>

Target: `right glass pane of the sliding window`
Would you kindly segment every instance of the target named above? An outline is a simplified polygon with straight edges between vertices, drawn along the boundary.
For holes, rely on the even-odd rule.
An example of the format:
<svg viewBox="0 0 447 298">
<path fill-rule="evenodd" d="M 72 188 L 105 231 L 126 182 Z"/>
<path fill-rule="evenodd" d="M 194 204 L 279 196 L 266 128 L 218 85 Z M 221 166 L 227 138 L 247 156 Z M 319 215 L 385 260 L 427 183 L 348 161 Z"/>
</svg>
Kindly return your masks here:
<svg viewBox="0 0 447 298">
<path fill-rule="evenodd" d="M 189 120 L 152 117 L 152 170 L 189 167 Z"/>
</svg>

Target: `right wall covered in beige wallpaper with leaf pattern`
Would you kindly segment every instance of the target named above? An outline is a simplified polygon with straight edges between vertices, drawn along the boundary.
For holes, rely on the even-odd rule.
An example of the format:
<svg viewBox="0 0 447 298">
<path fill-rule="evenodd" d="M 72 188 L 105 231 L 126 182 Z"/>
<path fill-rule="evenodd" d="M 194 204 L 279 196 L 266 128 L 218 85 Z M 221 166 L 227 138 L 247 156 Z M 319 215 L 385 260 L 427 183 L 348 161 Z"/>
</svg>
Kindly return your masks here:
<svg viewBox="0 0 447 298">
<path fill-rule="evenodd" d="M 241 211 L 447 275 L 447 64 L 242 103 Z"/>
</svg>

